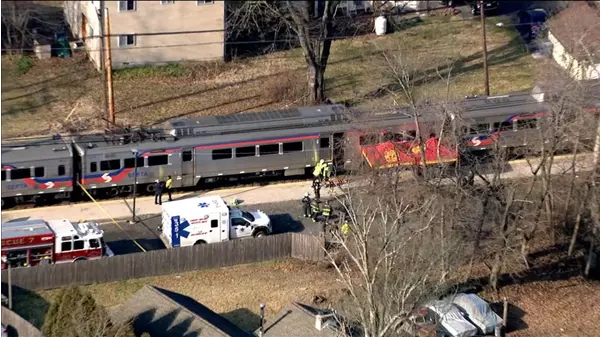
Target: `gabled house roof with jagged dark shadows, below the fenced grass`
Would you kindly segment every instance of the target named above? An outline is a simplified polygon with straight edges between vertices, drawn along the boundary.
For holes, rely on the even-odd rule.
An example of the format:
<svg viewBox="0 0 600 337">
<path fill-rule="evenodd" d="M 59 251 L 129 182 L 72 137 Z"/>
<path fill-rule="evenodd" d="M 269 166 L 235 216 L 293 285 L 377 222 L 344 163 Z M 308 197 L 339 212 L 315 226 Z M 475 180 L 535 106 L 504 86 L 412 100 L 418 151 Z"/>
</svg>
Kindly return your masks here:
<svg viewBox="0 0 600 337">
<path fill-rule="evenodd" d="M 169 337 L 254 337 L 190 297 L 144 286 L 110 310 L 114 323 L 133 322 L 136 333 Z"/>
</svg>

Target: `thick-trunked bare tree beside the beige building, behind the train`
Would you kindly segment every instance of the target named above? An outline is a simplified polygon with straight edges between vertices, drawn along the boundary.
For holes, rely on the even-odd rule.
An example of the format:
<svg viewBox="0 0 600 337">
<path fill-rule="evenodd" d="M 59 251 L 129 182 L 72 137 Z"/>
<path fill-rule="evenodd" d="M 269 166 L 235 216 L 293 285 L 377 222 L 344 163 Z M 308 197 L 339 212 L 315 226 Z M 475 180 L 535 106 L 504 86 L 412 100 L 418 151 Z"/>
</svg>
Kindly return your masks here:
<svg viewBox="0 0 600 337">
<path fill-rule="evenodd" d="M 335 12 L 340 1 L 323 1 L 322 13 L 314 1 L 246 1 L 230 9 L 228 21 L 236 31 L 262 29 L 270 22 L 281 31 L 278 36 L 293 37 L 300 44 L 308 66 L 311 98 L 324 102 L 325 71 L 335 37 Z"/>
</svg>

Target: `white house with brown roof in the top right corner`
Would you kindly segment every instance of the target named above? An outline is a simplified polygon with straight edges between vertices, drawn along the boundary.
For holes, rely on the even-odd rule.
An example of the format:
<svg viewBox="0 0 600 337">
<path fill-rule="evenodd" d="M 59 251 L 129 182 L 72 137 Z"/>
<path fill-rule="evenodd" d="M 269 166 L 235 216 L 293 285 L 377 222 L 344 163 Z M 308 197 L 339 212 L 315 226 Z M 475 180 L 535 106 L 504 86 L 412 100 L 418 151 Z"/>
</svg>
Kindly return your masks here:
<svg viewBox="0 0 600 337">
<path fill-rule="evenodd" d="M 586 2 L 572 2 L 548 22 L 552 58 L 575 80 L 600 78 L 600 17 Z"/>
</svg>

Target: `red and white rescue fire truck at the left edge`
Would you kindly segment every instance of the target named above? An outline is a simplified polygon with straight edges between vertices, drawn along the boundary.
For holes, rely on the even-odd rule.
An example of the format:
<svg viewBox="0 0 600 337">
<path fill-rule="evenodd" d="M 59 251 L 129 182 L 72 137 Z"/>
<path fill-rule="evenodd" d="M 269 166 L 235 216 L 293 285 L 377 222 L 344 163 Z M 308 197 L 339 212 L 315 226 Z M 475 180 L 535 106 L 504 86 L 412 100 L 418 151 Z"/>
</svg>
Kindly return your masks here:
<svg viewBox="0 0 600 337">
<path fill-rule="evenodd" d="M 33 219 L 2 223 L 1 269 L 100 259 L 114 254 L 91 222 Z"/>
</svg>

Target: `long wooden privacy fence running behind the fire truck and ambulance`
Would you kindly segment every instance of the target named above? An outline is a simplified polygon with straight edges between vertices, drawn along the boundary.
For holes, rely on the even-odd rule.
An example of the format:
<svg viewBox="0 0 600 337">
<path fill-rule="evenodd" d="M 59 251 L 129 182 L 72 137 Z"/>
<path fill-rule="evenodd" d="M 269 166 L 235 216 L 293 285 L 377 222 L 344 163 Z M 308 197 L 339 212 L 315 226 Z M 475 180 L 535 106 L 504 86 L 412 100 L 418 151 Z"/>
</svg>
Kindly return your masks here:
<svg viewBox="0 0 600 337">
<path fill-rule="evenodd" d="M 53 289 L 168 275 L 288 257 L 318 261 L 324 257 L 322 237 L 284 233 L 256 239 L 155 250 L 93 261 L 12 270 L 12 284 L 29 290 Z M 0 274 L 7 280 L 7 271 Z"/>
</svg>

